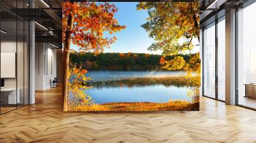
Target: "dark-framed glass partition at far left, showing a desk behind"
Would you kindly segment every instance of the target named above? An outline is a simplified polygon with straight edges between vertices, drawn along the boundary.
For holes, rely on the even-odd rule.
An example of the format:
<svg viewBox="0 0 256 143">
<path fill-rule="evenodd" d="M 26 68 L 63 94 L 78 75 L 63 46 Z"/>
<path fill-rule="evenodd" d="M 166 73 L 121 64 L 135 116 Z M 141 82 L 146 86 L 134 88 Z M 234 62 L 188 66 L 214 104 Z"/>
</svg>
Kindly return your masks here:
<svg viewBox="0 0 256 143">
<path fill-rule="evenodd" d="M 12 13 L 26 2 L 0 1 L 0 114 L 29 104 L 29 22 Z"/>
</svg>

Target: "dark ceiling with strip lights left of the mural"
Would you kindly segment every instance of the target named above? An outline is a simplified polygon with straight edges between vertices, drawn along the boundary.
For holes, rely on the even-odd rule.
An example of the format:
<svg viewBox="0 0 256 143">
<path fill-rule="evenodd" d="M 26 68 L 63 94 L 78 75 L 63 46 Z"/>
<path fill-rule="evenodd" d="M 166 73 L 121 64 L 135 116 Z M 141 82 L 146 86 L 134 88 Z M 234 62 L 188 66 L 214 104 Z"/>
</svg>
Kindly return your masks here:
<svg viewBox="0 0 256 143">
<path fill-rule="evenodd" d="M 7 32 L 6 38 L 20 37 L 27 30 L 20 24 L 32 20 L 36 22 L 36 42 L 50 42 L 61 47 L 61 12 L 61 0 L 1 0 L 1 29 Z"/>
</svg>

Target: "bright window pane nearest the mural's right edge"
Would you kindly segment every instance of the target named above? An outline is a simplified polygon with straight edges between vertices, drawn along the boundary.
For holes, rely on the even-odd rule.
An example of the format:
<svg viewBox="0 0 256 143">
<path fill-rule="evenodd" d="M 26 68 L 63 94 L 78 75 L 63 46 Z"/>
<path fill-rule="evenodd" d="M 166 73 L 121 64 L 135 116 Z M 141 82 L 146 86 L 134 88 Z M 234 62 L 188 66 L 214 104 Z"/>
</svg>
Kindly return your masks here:
<svg viewBox="0 0 256 143">
<path fill-rule="evenodd" d="M 215 98 L 215 25 L 204 29 L 204 95 Z"/>
</svg>

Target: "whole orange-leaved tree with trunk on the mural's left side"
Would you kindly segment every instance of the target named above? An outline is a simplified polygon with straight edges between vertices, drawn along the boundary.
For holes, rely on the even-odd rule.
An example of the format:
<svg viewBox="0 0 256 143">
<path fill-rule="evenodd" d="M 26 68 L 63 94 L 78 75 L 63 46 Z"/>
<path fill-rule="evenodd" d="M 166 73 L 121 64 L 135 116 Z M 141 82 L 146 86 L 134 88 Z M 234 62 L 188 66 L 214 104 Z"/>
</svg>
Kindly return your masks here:
<svg viewBox="0 0 256 143">
<path fill-rule="evenodd" d="M 115 42 L 116 37 L 106 37 L 125 28 L 114 18 L 117 8 L 109 3 L 74 3 L 62 5 L 62 42 L 63 42 L 63 110 L 68 110 L 68 64 L 70 44 L 79 50 L 99 54 Z"/>
</svg>

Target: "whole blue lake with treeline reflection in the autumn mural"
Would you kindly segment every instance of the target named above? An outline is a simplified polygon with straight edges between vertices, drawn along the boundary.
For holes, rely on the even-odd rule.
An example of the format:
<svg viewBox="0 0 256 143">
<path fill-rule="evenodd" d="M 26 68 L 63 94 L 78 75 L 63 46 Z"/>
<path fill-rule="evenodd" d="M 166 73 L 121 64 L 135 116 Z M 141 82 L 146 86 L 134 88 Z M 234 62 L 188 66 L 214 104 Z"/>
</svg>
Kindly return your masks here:
<svg viewBox="0 0 256 143">
<path fill-rule="evenodd" d="M 88 93 L 95 103 L 155 102 L 186 100 L 189 83 L 184 72 L 88 72 L 91 89 Z"/>
</svg>

